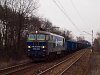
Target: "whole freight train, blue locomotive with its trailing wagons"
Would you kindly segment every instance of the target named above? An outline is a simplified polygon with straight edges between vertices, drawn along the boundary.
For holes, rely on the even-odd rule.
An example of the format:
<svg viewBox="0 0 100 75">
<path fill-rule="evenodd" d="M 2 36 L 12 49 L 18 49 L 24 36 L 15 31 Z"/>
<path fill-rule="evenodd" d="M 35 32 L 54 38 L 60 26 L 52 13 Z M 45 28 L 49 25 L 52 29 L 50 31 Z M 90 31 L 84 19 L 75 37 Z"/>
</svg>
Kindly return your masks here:
<svg viewBox="0 0 100 75">
<path fill-rule="evenodd" d="M 85 40 L 84 43 L 76 42 L 51 32 L 34 31 L 28 34 L 26 53 L 34 60 L 45 60 L 50 56 L 75 52 L 90 46 Z"/>
</svg>

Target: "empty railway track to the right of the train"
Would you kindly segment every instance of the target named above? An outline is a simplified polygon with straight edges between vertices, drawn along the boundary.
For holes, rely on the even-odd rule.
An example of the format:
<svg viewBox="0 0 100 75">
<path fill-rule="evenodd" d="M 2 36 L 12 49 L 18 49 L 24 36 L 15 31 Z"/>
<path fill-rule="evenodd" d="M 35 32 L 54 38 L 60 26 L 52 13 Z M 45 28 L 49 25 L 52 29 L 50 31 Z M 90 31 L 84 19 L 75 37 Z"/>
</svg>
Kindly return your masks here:
<svg viewBox="0 0 100 75">
<path fill-rule="evenodd" d="M 63 75 L 65 71 L 67 71 L 74 63 L 76 63 L 85 53 L 86 51 L 79 51 L 70 58 L 53 65 L 52 67 L 42 71 L 37 75 Z"/>
</svg>

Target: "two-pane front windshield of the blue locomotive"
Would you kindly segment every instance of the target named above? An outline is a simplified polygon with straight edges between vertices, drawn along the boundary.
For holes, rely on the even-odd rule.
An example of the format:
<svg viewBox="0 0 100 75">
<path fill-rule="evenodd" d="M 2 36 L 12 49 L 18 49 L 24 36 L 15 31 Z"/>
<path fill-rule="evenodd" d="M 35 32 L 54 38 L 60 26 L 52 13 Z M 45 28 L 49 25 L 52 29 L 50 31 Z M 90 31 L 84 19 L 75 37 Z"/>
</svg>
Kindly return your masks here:
<svg viewBox="0 0 100 75">
<path fill-rule="evenodd" d="M 29 40 L 45 40 L 45 34 L 29 34 Z"/>
</svg>

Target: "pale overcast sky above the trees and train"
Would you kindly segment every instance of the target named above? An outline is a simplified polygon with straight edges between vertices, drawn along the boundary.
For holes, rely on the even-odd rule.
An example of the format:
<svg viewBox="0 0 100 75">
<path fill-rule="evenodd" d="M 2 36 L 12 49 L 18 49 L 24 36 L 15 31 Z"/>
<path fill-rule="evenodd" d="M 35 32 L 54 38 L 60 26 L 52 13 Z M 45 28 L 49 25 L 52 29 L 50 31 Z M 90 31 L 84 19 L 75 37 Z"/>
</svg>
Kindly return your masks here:
<svg viewBox="0 0 100 75">
<path fill-rule="evenodd" d="M 75 25 L 57 7 L 63 6 L 64 12 Z M 100 0 L 39 0 L 38 14 L 49 19 L 53 25 L 72 31 L 74 36 L 85 36 L 91 40 L 91 33 L 100 32 Z"/>
</svg>

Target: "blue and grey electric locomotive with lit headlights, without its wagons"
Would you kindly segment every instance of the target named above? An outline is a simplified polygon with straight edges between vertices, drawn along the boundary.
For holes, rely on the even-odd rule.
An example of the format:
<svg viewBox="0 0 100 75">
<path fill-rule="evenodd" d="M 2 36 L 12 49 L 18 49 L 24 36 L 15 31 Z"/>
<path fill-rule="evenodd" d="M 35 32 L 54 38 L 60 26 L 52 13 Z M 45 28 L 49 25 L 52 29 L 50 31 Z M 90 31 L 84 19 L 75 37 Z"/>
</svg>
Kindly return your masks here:
<svg viewBox="0 0 100 75">
<path fill-rule="evenodd" d="M 27 39 L 27 54 L 34 60 L 45 59 L 50 55 L 65 51 L 65 38 L 46 31 L 29 33 Z"/>
</svg>

